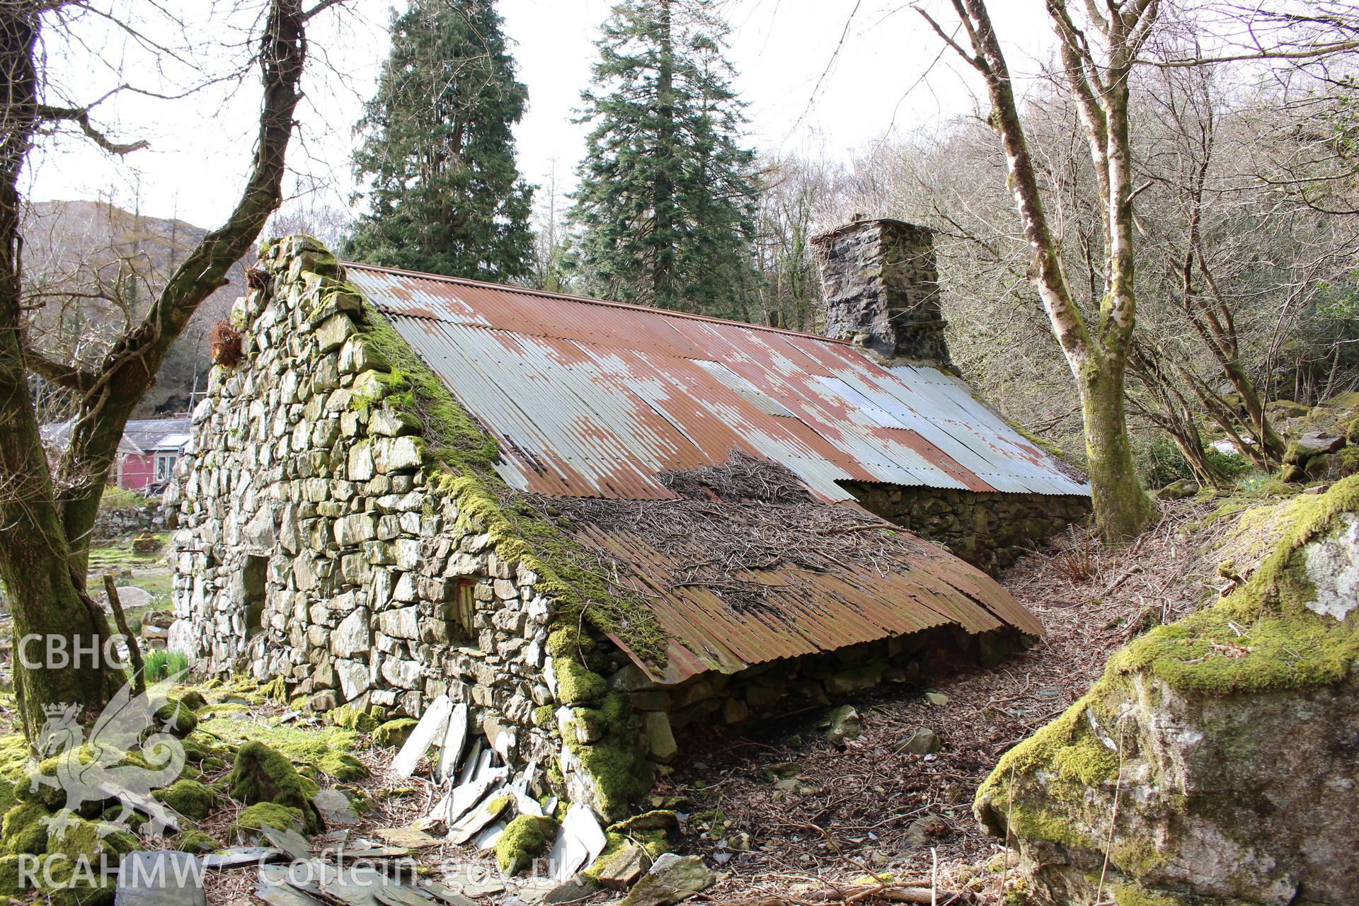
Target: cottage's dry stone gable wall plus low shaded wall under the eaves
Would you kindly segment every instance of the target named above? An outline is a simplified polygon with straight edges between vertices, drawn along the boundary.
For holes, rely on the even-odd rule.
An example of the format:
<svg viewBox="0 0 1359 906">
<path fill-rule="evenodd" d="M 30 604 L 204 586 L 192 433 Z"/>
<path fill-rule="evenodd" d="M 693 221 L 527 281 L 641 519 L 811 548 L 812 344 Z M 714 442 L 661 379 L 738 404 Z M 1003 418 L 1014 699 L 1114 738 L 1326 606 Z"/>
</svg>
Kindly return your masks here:
<svg viewBox="0 0 1359 906">
<path fill-rule="evenodd" d="M 535 572 L 553 566 L 520 560 L 535 554 L 487 509 L 493 475 L 458 474 L 429 448 L 431 410 L 412 402 L 420 363 L 383 346 L 390 331 L 334 257 L 294 236 L 261 268 L 232 312 L 242 359 L 213 369 L 166 494 L 169 645 L 207 672 L 386 717 L 447 694 L 516 767 L 535 762 L 617 820 L 675 757 L 675 731 L 906 681 L 940 645 L 987 662 L 1015 641 L 940 630 L 659 686 L 546 591 L 567 594 Z M 419 382 L 431 384 L 457 407 Z"/>
</svg>

